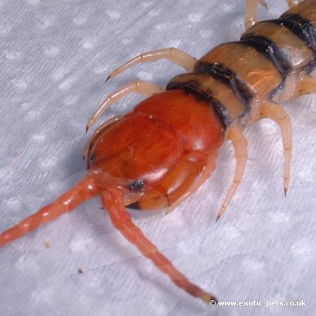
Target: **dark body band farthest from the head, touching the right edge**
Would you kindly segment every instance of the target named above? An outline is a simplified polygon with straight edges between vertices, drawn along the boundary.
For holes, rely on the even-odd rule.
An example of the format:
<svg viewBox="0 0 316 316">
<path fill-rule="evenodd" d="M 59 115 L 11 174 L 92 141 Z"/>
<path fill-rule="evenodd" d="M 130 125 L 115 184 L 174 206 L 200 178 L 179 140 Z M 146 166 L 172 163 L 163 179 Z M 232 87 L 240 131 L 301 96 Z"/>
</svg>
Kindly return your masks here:
<svg viewBox="0 0 316 316">
<path fill-rule="evenodd" d="M 280 19 L 271 20 L 269 22 L 284 25 L 316 52 L 315 28 L 308 20 L 300 16 L 300 14 L 282 14 Z"/>
</svg>

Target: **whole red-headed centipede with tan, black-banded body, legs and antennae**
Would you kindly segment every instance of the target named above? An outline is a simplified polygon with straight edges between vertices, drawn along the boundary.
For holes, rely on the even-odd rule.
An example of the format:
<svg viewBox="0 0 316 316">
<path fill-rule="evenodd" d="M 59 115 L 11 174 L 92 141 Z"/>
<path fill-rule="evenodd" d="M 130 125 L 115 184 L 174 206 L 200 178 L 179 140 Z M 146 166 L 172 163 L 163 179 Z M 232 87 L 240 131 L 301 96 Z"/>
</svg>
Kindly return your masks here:
<svg viewBox="0 0 316 316">
<path fill-rule="evenodd" d="M 280 18 L 257 19 L 264 0 L 247 0 L 245 32 L 201 58 L 169 47 L 145 52 L 115 69 L 122 74 L 139 63 L 167 59 L 185 69 L 166 88 L 134 80 L 109 94 L 87 124 L 87 131 L 111 104 L 137 93 L 133 110 L 96 128 L 83 157 L 87 172 L 56 201 L 0 235 L 0 246 L 100 196 L 113 226 L 146 258 L 188 294 L 209 304 L 216 296 L 193 284 L 163 256 L 135 225 L 126 207 L 174 210 L 210 178 L 226 141 L 234 148 L 234 180 L 218 212 L 228 208 L 242 181 L 248 159 L 247 126 L 273 120 L 284 148 L 284 194 L 289 190 L 291 118 L 282 103 L 316 92 L 316 0 L 287 0 Z"/>
</svg>

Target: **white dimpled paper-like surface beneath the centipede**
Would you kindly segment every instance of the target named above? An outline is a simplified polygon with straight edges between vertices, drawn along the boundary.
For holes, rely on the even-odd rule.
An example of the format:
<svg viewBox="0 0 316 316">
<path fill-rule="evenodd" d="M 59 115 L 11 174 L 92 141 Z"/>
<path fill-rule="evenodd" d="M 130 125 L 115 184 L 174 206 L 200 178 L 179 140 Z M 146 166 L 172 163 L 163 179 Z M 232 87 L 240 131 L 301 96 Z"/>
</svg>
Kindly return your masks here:
<svg viewBox="0 0 316 316">
<path fill-rule="evenodd" d="M 261 18 L 286 9 L 268 4 Z M 82 177 L 84 128 L 107 93 L 134 78 L 166 84 L 182 69 L 143 64 L 105 84 L 109 71 L 161 47 L 202 56 L 239 38 L 243 14 L 243 0 L 0 0 L 0 231 Z M 280 133 L 262 121 L 246 131 L 245 180 L 219 223 L 234 172 L 229 144 L 210 181 L 172 214 L 133 212 L 179 270 L 220 300 L 303 298 L 306 308 L 204 306 L 140 256 L 94 199 L 0 249 L 0 315 L 315 315 L 315 101 L 286 104 L 294 137 L 286 199 Z"/>
</svg>

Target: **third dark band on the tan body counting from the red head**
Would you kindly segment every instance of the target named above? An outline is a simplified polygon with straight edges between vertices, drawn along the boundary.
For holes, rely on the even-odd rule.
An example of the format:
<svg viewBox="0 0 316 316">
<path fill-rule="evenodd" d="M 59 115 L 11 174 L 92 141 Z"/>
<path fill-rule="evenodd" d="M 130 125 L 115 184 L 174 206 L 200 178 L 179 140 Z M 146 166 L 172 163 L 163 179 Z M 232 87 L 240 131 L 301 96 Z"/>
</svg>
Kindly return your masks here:
<svg viewBox="0 0 316 316">
<path fill-rule="evenodd" d="M 258 52 L 269 58 L 282 76 L 292 68 L 289 56 L 286 56 L 282 52 L 282 49 L 267 37 L 246 34 L 240 38 L 240 43 L 255 48 Z"/>
</svg>

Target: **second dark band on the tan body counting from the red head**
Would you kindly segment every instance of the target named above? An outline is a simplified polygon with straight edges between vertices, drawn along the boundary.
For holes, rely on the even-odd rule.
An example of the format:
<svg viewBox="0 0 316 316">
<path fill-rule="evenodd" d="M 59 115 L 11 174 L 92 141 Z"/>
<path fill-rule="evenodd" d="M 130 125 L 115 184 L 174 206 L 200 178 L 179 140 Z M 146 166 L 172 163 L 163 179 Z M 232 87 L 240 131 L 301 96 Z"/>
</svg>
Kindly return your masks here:
<svg viewBox="0 0 316 316">
<path fill-rule="evenodd" d="M 212 76 L 212 78 L 225 83 L 234 91 L 236 97 L 242 104 L 245 104 L 245 114 L 250 111 L 250 103 L 254 93 L 251 91 L 249 84 L 240 79 L 232 69 L 219 63 L 198 63 L 194 67 L 194 72 L 207 73 Z"/>
</svg>

